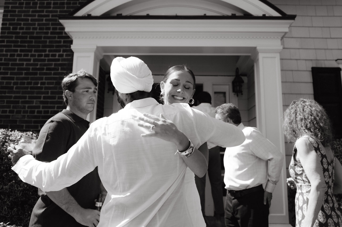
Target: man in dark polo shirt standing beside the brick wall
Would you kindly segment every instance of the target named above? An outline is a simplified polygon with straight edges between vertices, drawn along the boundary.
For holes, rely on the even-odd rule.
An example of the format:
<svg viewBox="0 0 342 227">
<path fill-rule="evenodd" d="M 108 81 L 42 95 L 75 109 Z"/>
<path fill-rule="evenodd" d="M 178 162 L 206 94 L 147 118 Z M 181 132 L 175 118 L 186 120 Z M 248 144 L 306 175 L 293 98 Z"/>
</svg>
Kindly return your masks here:
<svg viewBox="0 0 342 227">
<path fill-rule="evenodd" d="M 95 106 L 97 80 L 84 70 L 62 81 L 67 108 L 42 127 L 32 152 L 36 160 L 51 162 L 66 153 L 88 130 L 86 120 Z M 96 226 L 100 211 L 94 210 L 97 194 L 106 194 L 97 167 L 76 184 L 56 192 L 38 189 L 40 198 L 32 210 L 30 227 Z"/>
</svg>

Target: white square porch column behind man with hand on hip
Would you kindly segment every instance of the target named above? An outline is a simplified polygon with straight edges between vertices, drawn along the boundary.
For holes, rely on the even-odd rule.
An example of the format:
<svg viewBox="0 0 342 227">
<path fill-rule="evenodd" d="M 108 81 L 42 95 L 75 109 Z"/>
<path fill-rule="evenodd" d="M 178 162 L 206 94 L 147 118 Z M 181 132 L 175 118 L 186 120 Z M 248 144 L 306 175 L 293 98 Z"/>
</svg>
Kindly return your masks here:
<svg viewBox="0 0 342 227">
<path fill-rule="evenodd" d="M 285 143 L 282 130 L 282 93 L 280 77 L 280 55 L 282 46 L 257 46 L 254 60 L 255 106 L 257 127 L 284 155 L 284 165 L 279 182 L 273 192 L 269 209 L 269 226 L 289 225 Z"/>
</svg>

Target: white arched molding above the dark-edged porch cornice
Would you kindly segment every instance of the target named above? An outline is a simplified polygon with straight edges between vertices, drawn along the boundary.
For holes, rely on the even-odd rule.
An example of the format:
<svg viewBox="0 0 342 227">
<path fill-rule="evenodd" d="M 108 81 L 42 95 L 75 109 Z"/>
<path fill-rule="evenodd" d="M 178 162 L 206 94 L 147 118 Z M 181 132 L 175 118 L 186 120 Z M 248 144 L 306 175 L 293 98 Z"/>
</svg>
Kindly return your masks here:
<svg viewBox="0 0 342 227">
<path fill-rule="evenodd" d="M 154 6 L 153 6 L 154 5 Z M 211 5 L 211 6 L 210 6 Z M 218 7 L 221 5 L 220 7 Z M 130 0 L 94 0 L 87 5 L 84 5 L 77 9 L 74 16 L 86 16 L 91 14 L 92 16 L 101 16 L 106 14 L 108 11 L 112 11 L 112 15 L 115 13 L 124 12 L 122 15 L 133 15 L 138 12 L 148 12 L 148 9 L 166 9 L 165 12 L 170 11 L 170 7 L 189 7 L 198 10 L 198 15 L 203 15 L 203 10 L 215 12 L 221 15 L 231 15 L 237 13 L 240 15 L 246 12 L 253 16 L 283 16 L 284 13 L 279 10 L 276 6 L 263 0 L 202 0 L 202 1 L 155 1 L 155 0 L 141 0 L 141 1 L 130 1 Z M 153 11 L 151 11 L 153 12 Z M 205 11 L 204 11 L 205 12 Z M 169 14 L 170 15 L 170 14 Z"/>
</svg>

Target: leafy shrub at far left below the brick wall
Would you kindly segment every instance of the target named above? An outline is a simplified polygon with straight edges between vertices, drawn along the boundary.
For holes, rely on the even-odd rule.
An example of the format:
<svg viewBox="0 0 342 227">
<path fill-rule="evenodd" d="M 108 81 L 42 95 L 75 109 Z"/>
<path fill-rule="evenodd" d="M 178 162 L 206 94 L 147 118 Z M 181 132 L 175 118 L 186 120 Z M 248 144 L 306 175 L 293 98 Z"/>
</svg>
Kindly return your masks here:
<svg viewBox="0 0 342 227">
<path fill-rule="evenodd" d="M 22 182 L 11 170 L 13 166 L 7 147 L 21 136 L 36 136 L 35 132 L 11 131 L 0 128 L 0 227 L 14 224 L 27 227 L 32 208 L 38 200 L 37 188 Z M 8 226 L 10 227 L 10 226 Z"/>
</svg>

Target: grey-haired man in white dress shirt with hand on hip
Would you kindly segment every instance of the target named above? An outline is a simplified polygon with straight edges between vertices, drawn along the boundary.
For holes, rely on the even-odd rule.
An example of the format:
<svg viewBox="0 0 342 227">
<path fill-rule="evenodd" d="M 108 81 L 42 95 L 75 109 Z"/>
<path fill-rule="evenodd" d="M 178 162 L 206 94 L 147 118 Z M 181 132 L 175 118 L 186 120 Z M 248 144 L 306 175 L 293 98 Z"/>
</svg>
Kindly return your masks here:
<svg viewBox="0 0 342 227">
<path fill-rule="evenodd" d="M 223 157 L 225 224 L 268 227 L 272 192 L 279 181 L 284 156 L 257 128 L 241 123 L 240 111 L 234 104 L 222 104 L 215 112 L 216 119 L 236 125 L 246 137 L 241 145 L 226 148 Z"/>
</svg>

